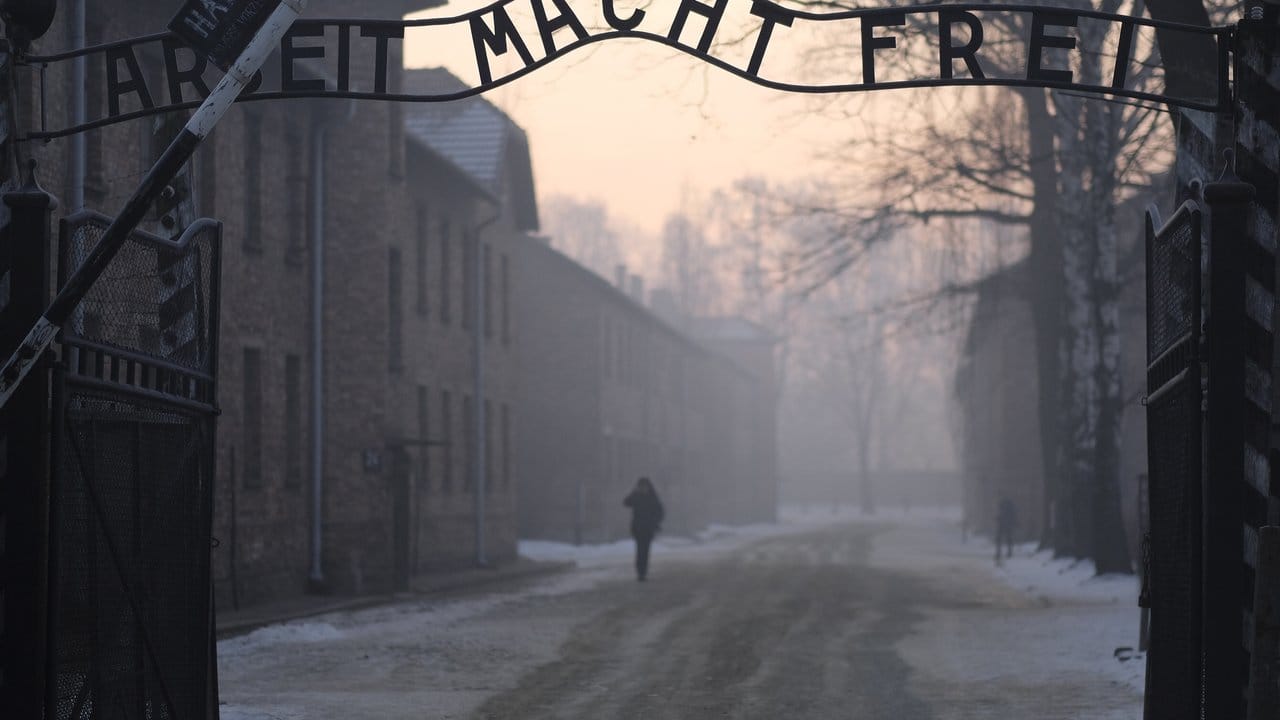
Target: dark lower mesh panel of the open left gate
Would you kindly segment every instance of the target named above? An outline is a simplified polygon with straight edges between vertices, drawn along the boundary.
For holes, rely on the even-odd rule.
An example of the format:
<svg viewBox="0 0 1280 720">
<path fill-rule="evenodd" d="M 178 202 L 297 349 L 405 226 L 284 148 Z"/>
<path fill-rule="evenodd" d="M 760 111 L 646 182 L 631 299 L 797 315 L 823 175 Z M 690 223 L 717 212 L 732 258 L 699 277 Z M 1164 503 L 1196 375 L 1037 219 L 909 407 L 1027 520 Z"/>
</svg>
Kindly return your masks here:
<svg viewBox="0 0 1280 720">
<path fill-rule="evenodd" d="M 73 391 L 58 456 L 54 717 L 198 717 L 211 423 Z"/>
</svg>

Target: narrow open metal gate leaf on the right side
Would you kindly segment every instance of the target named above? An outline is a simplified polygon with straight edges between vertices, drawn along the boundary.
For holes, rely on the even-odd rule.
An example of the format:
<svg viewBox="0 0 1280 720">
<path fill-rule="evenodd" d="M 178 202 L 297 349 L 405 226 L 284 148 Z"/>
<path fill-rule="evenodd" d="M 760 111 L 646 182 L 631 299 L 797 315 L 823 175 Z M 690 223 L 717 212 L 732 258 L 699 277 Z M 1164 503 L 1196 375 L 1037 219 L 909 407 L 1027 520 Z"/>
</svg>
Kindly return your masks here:
<svg viewBox="0 0 1280 720">
<path fill-rule="evenodd" d="M 1148 537 L 1144 716 L 1201 716 L 1201 209 L 1147 211 Z"/>
</svg>

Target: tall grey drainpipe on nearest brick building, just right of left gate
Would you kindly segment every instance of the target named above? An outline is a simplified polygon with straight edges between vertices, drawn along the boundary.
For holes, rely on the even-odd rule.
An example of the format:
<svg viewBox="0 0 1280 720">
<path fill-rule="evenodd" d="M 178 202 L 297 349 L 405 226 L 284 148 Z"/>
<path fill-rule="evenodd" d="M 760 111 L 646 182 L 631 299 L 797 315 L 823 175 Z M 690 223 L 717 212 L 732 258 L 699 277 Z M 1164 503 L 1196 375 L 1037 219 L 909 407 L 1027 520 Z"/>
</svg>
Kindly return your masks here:
<svg viewBox="0 0 1280 720">
<path fill-rule="evenodd" d="M 352 101 L 346 119 L 356 114 Z M 315 122 L 311 133 L 311 592 L 324 592 L 324 243 L 325 243 L 325 145 L 330 118 Z"/>
</svg>

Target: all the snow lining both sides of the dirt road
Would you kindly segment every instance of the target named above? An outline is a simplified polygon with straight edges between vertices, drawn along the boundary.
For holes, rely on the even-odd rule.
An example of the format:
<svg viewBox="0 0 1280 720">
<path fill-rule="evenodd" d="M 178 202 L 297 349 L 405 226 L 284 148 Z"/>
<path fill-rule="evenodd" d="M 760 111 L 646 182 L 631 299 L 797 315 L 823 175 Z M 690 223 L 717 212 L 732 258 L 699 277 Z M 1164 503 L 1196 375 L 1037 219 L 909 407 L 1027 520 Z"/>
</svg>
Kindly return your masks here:
<svg viewBox="0 0 1280 720">
<path fill-rule="evenodd" d="M 1036 553 L 1029 544 L 1019 546 L 1015 556 L 997 568 L 992 560 L 993 548 L 987 539 L 970 537 L 961 542 L 960 515 L 955 509 L 916 507 L 910 512 L 888 510 L 864 515 L 849 507 L 788 507 L 781 514 L 778 524 L 713 527 L 696 537 L 659 536 L 654 553 L 659 561 L 698 560 L 731 552 L 762 538 L 845 523 L 868 523 L 883 528 L 876 536 L 872 565 L 932 578 L 938 583 L 937 594 L 941 598 L 947 597 L 948 583 L 961 583 L 968 597 L 974 597 L 977 588 L 978 597 L 983 601 L 973 609 L 952 607 L 928 614 L 918 630 L 900 643 L 902 657 L 916 670 L 913 683 L 922 685 L 918 688 L 922 697 L 932 697 L 943 708 L 948 705 L 964 707 L 959 701 L 972 701 L 975 693 L 991 693 L 992 698 L 997 698 L 992 702 L 1005 703 L 1009 702 L 1010 688 L 1025 688 L 1023 694 L 1027 696 L 1028 705 L 1009 706 L 1011 712 L 1001 716 L 1089 720 L 1140 717 L 1144 660 L 1140 655 L 1129 652 L 1121 653 L 1128 659 L 1121 661 L 1116 655 L 1116 648 L 1137 646 L 1137 580 L 1133 577 L 1096 578 L 1091 564 L 1053 560 L 1047 553 Z M 494 674 L 500 662 L 493 662 L 498 660 L 494 657 L 481 666 L 468 667 L 470 662 L 451 659 L 452 648 L 456 647 L 460 652 L 466 650 L 460 655 L 462 657 L 474 653 L 476 647 L 484 647 L 488 652 L 489 643 L 493 643 L 494 652 L 527 655 L 525 664 L 536 665 L 554 655 L 557 638 L 568 630 L 567 626 L 503 625 L 503 642 L 497 642 L 467 634 L 467 628 L 472 624 L 465 620 L 481 615 L 500 616 L 500 612 L 492 612 L 527 598 L 564 596 L 602 582 L 628 578 L 634 548 L 630 541 L 595 546 L 522 541 L 520 552 L 532 560 L 572 561 L 576 569 L 512 591 L 451 600 L 425 597 L 262 628 L 218 643 L 224 678 L 232 680 L 232 675 L 238 675 L 248 682 L 255 674 L 280 671 L 280 666 L 264 659 L 292 653 L 316 652 L 325 662 L 334 662 L 337 657 L 328 657 L 332 651 L 320 648 L 326 643 L 340 647 L 348 634 L 366 635 L 374 632 L 387 637 L 393 646 L 399 635 L 408 632 L 413 635 L 429 634 L 445 644 L 445 652 L 430 664 L 440 664 L 435 673 L 444 678 L 440 682 L 448 688 L 444 693 L 439 689 L 433 692 L 433 702 L 448 703 L 452 692 L 457 694 L 461 712 L 485 693 L 483 687 L 474 687 L 474 680 L 468 678 L 474 678 L 474 673 Z M 518 639 L 521 633 L 530 634 L 525 638 L 527 642 Z M 547 657 L 543 659 L 543 655 Z M 371 659 L 365 656 L 364 660 Z M 1041 684 L 1061 685 L 1062 678 L 1078 679 L 1079 692 L 1068 693 L 1062 698 L 1037 696 L 1036 688 Z M 515 678 L 490 676 L 489 680 L 493 685 L 499 685 L 512 683 Z M 275 697 L 274 684 L 252 684 L 257 685 L 256 692 L 239 698 L 243 703 L 233 700 L 221 707 L 224 720 L 301 717 L 291 712 L 291 703 L 285 700 L 288 693 Z M 307 682 L 293 678 L 293 684 L 291 689 L 297 692 Z M 1106 705 L 1102 706 L 1105 710 L 1098 706 L 1098 702 L 1103 702 L 1096 692 L 1100 685 L 1106 691 L 1101 693 L 1106 696 Z M 229 689 L 229 685 L 224 683 L 224 688 Z M 955 698 L 959 700 L 952 702 Z M 1060 714 L 1036 711 L 1037 703 L 1046 702 L 1055 703 Z M 1073 705 L 1082 702 L 1093 705 Z M 969 715 L 964 711 L 940 714 L 943 719 L 988 716 L 992 715 Z"/>
</svg>

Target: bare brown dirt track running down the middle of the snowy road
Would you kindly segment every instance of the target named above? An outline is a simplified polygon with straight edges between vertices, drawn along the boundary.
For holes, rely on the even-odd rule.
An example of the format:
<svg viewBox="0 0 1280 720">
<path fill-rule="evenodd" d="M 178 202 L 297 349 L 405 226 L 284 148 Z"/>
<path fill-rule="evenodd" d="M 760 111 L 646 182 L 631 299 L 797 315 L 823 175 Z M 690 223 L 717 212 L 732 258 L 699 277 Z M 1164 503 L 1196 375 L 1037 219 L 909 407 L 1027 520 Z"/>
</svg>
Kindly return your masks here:
<svg viewBox="0 0 1280 720">
<path fill-rule="evenodd" d="M 572 598 L 590 619 L 562 656 L 479 716 L 931 717 L 893 650 L 929 589 L 869 568 L 869 536 L 774 538 L 714 564 L 659 559 L 648 583 Z M 608 609 L 593 612 L 600 600 Z"/>
</svg>

